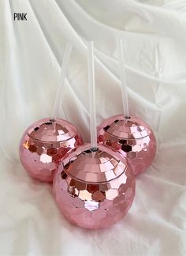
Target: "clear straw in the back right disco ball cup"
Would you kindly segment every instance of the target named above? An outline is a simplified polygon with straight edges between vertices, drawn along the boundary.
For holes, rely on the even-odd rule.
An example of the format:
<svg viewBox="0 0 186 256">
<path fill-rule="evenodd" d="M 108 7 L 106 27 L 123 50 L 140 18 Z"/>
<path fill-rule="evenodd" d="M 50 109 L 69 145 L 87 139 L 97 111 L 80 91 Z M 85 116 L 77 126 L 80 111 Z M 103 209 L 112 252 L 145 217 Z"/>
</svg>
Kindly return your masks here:
<svg viewBox="0 0 186 256">
<path fill-rule="evenodd" d="M 120 77 L 121 77 L 121 93 L 123 100 L 123 111 L 125 118 L 129 118 L 128 111 L 128 93 L 127 93 L 127 83 L 126 83 L 126 71 L 125 71 L 125 54 L 123 49 L 123 40 L 118 40 L 117 42 L 117 54 L 119 59 L 119 69 L 120 69 Z"/>
</svg>

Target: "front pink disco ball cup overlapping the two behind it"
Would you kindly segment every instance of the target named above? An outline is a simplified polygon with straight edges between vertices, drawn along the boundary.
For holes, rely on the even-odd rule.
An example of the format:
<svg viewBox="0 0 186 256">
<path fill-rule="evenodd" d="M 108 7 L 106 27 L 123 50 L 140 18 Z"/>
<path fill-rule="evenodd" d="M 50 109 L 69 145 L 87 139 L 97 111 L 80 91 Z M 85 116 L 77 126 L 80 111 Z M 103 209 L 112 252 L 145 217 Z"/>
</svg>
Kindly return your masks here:
<svg viewBox="0 0 186 256">
<path fill-rule="evenodd" d="M 54 198 L 61 213 L 83 228 L 106 228 L 132 205 L 135 177 L 127 161 L 103 145 L 80 145 L 54 175 Z"/>
</svg>

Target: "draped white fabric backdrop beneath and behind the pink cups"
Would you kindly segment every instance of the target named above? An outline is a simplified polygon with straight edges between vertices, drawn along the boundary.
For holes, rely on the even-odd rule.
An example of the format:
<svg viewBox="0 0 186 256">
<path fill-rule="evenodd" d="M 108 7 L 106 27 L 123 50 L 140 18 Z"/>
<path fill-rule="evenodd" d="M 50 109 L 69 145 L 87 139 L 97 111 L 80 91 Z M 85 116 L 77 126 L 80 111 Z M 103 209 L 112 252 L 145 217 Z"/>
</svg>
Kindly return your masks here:
<svg viewBox="0 0 186 256">
<path fill-rule="evenodd" d="M 0 11 L 0 254 L 186 255 L 185 0 L 1 0 Z M 14 12 L 28 21 L 13 21 Z M 91 232 L 61 216 L 51 186 L 20 165 L 18 145 L 28 125 L 50 115 L 68 40 L 76 49 L 61 117 L 89 140 L 86 40 L 95 41 L 98 124 L 121 113 L 118 36 L 131 113 L 151 124 L 158 152 L 125 219 Z"/>
</svg>

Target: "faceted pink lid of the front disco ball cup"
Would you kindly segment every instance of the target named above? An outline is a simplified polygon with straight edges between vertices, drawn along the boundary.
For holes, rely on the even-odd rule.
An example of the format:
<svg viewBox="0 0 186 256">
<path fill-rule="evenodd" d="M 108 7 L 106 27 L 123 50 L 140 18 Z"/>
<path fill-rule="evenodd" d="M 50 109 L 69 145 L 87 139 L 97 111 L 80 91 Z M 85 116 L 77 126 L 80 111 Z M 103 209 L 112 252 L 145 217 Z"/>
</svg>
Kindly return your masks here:
<svg viewBox="0 0 186 256">
<path fill-rule="evenodd" d="M 107 183 L 117 179 L 127 169 L 127 162 L 117 152 L 98 145 L 99 150 L 91 151 L 91 145 L 80 145 L 76 151 L 62 161 L 67 175 L 86 183 Z"/>
</svg>

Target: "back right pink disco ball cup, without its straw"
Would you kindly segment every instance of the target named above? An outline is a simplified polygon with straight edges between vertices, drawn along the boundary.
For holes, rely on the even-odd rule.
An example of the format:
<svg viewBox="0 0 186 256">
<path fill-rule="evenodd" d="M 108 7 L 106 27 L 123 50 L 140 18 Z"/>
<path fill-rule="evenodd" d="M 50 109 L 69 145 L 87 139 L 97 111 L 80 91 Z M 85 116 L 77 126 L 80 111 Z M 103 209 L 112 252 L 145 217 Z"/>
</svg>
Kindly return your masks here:
<svg viewBox="0 0 186 256">
<path fill-rule="evenodd" d="M 98 127 L 98 141 L 124 156 L 135 175 L 146 171 L 156 152 L 151 127 L 136 116 L 125 119 L 124 115 L 115 115 L 102 121 Z"/>
</svg>

